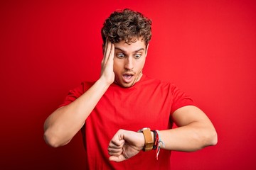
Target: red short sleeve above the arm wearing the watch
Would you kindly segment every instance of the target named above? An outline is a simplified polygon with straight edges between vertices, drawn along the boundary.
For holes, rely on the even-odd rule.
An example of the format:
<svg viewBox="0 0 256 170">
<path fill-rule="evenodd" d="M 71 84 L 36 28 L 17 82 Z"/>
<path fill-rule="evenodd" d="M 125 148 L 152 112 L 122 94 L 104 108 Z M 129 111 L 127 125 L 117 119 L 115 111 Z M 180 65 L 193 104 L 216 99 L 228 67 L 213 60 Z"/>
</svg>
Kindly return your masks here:
<svg viewBox="0 0 256 170">
<path fill-rule="evenodd" d="M 191 96 L 185 94 L 181 89 L 178 89 L 177 86 L 171 84 L 171 93 L 173 96 L 171 113 L 174 113 L 178 108 L 183 106 L 196 106 Z"/>
</svg>

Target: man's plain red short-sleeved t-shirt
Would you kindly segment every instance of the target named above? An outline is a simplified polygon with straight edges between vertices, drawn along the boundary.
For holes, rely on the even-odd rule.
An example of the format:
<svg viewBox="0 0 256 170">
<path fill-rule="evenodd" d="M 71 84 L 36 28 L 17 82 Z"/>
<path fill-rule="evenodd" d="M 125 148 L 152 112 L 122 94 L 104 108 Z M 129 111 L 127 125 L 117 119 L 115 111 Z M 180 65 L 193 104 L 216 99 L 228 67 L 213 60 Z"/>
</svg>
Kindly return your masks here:
<svg viewBox="0 0 256 170">
<path fill-rule="evenodd" d="M 93 83 L 83 82 L 69 92 L 60 106 L 81 96 Z M 112 84 L 95 106 L 82 128 L 87 169 L 170 169 L 171 152 L 161 149 L 139 152 L 124 162 L 110 162 L 107 147 L 119 129 L 137 131 L 141 128 L 166 130 L 172 128 L 171 114 L 183 106 L 194 105 L 192 99 L 174 84 L 142 79 L 130 88 Z"/>
</svg>

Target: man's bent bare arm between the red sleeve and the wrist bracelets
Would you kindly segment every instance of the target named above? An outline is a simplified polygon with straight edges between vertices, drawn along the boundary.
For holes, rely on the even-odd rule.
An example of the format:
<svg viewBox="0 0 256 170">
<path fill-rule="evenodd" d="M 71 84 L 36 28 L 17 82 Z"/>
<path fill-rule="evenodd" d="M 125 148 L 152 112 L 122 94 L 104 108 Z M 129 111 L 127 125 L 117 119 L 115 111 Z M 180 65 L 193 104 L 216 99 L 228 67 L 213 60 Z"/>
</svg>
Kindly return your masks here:
<svg viewBox="0 0 256 170">
<path fill-rule="evenodd" d="M 213 124 L 196 106 L 178 108 L 173 113 L 173 120 L 178 128 L 160 131 L 165 149 L 193 152 L 217 144 L 217 132 Z"/>
</svg>

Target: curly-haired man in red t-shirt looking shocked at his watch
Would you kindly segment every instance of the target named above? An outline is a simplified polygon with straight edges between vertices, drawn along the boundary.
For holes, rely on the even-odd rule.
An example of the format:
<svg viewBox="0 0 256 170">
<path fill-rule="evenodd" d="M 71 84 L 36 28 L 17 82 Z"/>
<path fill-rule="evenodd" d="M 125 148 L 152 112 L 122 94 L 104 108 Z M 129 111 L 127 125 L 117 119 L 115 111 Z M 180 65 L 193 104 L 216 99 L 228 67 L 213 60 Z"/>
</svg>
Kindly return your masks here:
<svg viewBox="0 0 256 170">
<path fill-rule="evenodd" d="M 217 143 L 212 123 L 189 96 L 142 73 L 151 39 L 148 18 L 115 11 L 102 39 L 100 79 L 71 90 L 47 118 L 48 145 L 66 145 L 81 130 L 87 169 L 170 169 L 171 150 L 193 152 Z M 178 128 L 171 129 L 173 123 Z"/>
</svg>

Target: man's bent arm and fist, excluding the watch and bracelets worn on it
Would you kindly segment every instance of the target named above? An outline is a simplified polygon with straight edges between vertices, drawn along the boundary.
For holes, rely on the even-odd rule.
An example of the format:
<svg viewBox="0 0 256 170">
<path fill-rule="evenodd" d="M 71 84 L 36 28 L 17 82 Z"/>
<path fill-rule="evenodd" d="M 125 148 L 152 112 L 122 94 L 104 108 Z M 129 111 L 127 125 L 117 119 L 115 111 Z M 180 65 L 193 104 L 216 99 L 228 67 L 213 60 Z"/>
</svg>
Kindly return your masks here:
<svg viewBox="0 0 256 170">
<path fill-rule="evenodd" d="M 164 142 L 164 146 L 161 145 L 162 149 L 193 152 L 217 144 L 217 132 L 213 124 L 206 114 L 196 106 L 178 108 L 173 113 L 173 120 L 178 128 L 159 131 L 161 140 Z M 151 136 L 153 138 L 153 132 L 151 132 Z M 108 147 L 110 160 L 120 162 L 129 159 L 128 156 L 139 153 L 138 149 L 124 147 L 142 149 L 142 146 L 144 146 L 144 135 L 141 132 L 119 130 Z"/>
</svg>

